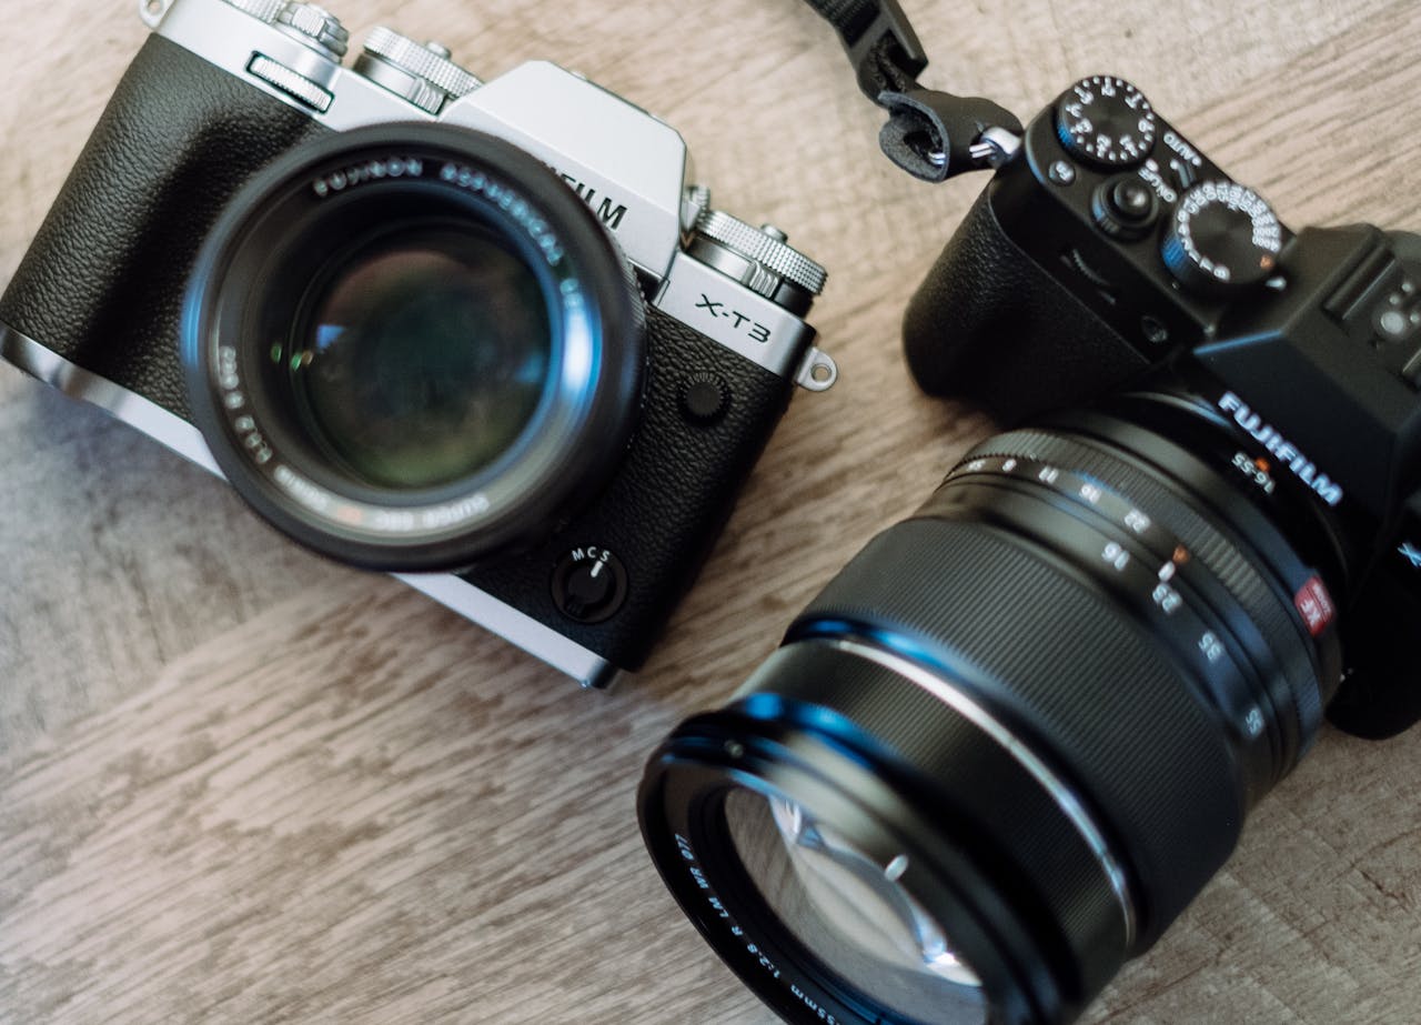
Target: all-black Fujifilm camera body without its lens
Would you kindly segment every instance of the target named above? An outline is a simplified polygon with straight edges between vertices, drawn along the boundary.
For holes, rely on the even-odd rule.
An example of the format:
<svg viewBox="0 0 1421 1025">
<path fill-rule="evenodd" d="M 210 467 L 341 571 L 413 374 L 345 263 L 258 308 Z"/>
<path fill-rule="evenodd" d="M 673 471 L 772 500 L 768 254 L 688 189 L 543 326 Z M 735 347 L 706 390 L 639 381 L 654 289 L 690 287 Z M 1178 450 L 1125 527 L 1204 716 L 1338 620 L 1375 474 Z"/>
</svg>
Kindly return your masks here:
<svg viewBox="0 0 1421 1025">
<path fill-rule="evenodd" d="M 1133 388 L 1195 397 L 1222 429 L 1191 444 L 1229 449 L 1216 458 L 1280 520 L 1326 520 L 1309 554 L 1343 613 L 1331 718 L 1373 736 L 1421 718 L 1405 644 L 1421 623 L 1421 237 L 1293 233 L 1138 90 L 1096 75 L 1026 127 L 904 338 L 925 391 L 1010 422 Z"/>
</svg>

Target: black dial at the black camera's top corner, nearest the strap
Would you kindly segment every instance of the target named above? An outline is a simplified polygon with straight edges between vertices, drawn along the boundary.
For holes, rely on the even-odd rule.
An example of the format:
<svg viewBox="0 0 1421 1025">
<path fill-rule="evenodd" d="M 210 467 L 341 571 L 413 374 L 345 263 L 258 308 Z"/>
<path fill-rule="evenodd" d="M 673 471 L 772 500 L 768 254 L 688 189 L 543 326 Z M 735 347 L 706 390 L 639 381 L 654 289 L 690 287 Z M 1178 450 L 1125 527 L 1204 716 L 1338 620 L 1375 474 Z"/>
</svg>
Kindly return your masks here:
<svg viewBox="0 0 1421 1025">
<path fill-rule="evenodd" d="M 1066 151 L 1100 168 L 1131 168 L 1154 148 L 1158 118 L 1124 78 L 1091 75 L 1056 101 L 1056 136 Z"/>
</svg>

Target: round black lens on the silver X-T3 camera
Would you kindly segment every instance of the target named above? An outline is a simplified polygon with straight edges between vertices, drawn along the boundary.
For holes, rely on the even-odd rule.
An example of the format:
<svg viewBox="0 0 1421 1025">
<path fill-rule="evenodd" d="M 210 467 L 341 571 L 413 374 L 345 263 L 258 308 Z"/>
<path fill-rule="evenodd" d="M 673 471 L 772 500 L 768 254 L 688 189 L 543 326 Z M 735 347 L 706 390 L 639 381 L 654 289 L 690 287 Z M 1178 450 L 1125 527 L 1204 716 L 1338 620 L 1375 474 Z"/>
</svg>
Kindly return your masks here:
<svg viewBox="0 0 1421 1025">
<path fill-rule="evenodd" d="M 635 426 L 641 296 L 529 154 L 446 125 L 308 142 L 259 172 L 188 289 L 196 424 L 273 525 L 371 569 L 541 540 Z"/>
</svg>

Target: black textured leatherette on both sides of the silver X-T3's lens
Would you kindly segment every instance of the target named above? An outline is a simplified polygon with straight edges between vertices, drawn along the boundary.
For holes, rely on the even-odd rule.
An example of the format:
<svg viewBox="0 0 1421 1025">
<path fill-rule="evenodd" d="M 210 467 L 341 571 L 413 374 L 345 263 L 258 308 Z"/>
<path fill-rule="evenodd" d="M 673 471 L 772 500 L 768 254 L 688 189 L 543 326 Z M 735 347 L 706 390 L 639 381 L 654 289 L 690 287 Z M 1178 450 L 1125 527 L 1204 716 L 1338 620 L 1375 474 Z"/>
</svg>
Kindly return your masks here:
<svg viewBox="0 0 1421 1025">
<path fill-rule="evenodd" d="M 253 172 L 328 131 L 151 37 L 0 300 L 0 321 L 190 421 L 179 321 L 198 249 Z M 657 310 L 647 333 L 638 426 L 605 489 L 544 544 L 465 574 L 627 670 L 695 579 L 793 390 Z M 698 372 L 729 392 L 709 425 L 681 411 Z M 553 604 L 551 577 L 563 554 L 593 544 L 622 562 L 628 593 L 611 618 L 580 624 Z"/>
</svg>

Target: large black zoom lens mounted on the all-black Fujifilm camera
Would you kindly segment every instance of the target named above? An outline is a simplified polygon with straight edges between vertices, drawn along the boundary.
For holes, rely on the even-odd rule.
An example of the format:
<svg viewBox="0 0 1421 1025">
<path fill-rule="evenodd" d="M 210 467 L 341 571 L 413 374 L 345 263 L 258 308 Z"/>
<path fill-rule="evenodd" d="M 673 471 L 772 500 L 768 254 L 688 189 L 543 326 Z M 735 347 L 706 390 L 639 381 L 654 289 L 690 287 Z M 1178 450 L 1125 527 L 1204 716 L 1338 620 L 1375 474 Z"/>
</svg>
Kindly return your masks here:
<svg viewBox="0 0 1421 1025">
<path fill-rule="evenodd" d="M 1233 442 L 985 442 L 661 746 L 648 849 L 786 1021 L 1071 1021 L 1222 866 L 1340 678 L 1329 530 Z"/>
</svg>

